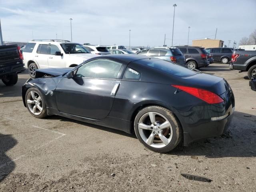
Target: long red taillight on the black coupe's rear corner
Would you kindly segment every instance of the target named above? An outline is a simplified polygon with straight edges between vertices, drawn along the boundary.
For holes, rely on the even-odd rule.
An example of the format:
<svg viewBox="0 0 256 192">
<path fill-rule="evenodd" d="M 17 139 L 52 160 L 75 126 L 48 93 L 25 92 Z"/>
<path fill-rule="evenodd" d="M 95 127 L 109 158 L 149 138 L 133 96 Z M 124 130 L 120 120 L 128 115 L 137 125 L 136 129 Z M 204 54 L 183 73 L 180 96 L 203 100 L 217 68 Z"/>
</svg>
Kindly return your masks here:
<svg viewBox="0 0 256 192">
<path fill-rule="evenodd" d="M 202 99 L 206 103 L 209 104 L 216 104 L 216 103 L 221 103 L 224 100 L 218 96 L 217 94 L 204 90 L 204 89 L 199 89 L 199 88 L 194 88 L 194 87 L 187 87 L 187 86 L 180 86 L 180 85 L 172 85 L 175 88 L 178 88 L 182 91 L 185 91 L 199 99 Z"/>
</svg>

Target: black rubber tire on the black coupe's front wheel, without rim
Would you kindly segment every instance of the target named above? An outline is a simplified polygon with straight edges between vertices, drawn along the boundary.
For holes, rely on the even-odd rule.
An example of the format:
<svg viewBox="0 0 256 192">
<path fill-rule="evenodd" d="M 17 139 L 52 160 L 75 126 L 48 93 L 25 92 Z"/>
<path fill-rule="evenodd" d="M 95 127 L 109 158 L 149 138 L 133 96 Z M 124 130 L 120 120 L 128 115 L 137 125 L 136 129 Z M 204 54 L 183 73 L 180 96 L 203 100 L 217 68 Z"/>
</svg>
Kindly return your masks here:
<svg viewBox="0 0 256 192">
<path fill-rule="evenodd" d="M 42 102 L 40 104 L 42 104 L 42 111 L 40 112 L 40 114 L 34 114 L 33 112 L 31 112 L 30 109 L 32 109 L 32 106 L 29 106 L 28 105 L 28 97 L 30 96 L 30 92 L 36 92 L 35 96 L 40 96 L 41 99 L 42 99 Z M 37 97 L 38 98 L 38 97 Z M 30 99 L 31 100 L 31 99 Z M 30 114 L 36 118 L 44 118 L 47 116 L 47 112 L 46 112 L 46 104 L 45 104 L 45 101 L 44 101 L 44 97 L 42 96 L 42 93 L 38 90 L 38 88 L 29 88 L 26 92 L 26 95 L 25 95 L 25 102 L 26 102 L 26 107 L 28 109 L 28 112 L 30 112 Z M 33 104 L 31 104 L 33 105 Z"/>
</svg>

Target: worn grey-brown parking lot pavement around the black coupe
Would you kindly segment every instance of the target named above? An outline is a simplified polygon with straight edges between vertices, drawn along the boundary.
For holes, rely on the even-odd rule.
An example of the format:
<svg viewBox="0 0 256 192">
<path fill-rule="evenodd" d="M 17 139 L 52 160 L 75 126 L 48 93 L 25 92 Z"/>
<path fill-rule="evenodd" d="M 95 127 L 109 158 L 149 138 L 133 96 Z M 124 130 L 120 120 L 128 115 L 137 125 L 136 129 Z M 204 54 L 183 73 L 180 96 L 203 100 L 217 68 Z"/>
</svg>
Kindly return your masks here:
<svg viewBox="0 0 256 192">
<path fill-rule="evenodd" d="M 27 72 L 12 87 L 0 82 L 0 191 L 255 191 L 256 92 L 246 73 L 229 70 L 228 64 L 200 70 L 232 87 L 231 135 L 168 154 L 147 150 L 135 135 L 118 130 L 60 116 L 34 118 L 21 98 Z"/>
</svg>

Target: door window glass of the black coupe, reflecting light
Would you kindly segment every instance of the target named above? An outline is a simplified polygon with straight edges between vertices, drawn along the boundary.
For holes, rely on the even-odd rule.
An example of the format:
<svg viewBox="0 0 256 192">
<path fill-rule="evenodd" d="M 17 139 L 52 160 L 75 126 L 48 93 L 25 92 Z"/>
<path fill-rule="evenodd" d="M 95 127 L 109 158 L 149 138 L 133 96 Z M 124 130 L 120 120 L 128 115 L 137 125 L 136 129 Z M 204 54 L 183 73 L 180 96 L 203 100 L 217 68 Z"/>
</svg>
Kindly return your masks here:
<svg viewBox="0 0 256 192">
<path fill-rule="evenodd" d="M 118 62 L 97 59 L 78 68 L 76 77 L 115 79 L 121 66 Z"/>
</svg>

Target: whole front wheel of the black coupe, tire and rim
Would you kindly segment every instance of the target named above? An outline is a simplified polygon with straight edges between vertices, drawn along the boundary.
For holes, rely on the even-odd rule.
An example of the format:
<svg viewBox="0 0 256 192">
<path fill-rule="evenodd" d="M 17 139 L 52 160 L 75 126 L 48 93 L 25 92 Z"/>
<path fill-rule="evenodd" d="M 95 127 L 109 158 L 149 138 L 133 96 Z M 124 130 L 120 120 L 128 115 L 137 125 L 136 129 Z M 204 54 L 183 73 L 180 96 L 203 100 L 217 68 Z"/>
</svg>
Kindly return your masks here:
<svg viewBox="0 0 256 192">
<path fill-rule="evenodd" d="M 42 93 L 37 88 L 29 88 L 25 95 L 25 102 L 28 111 L 36 118 L 47 116 L 46 105 Z"/>
</svg>

